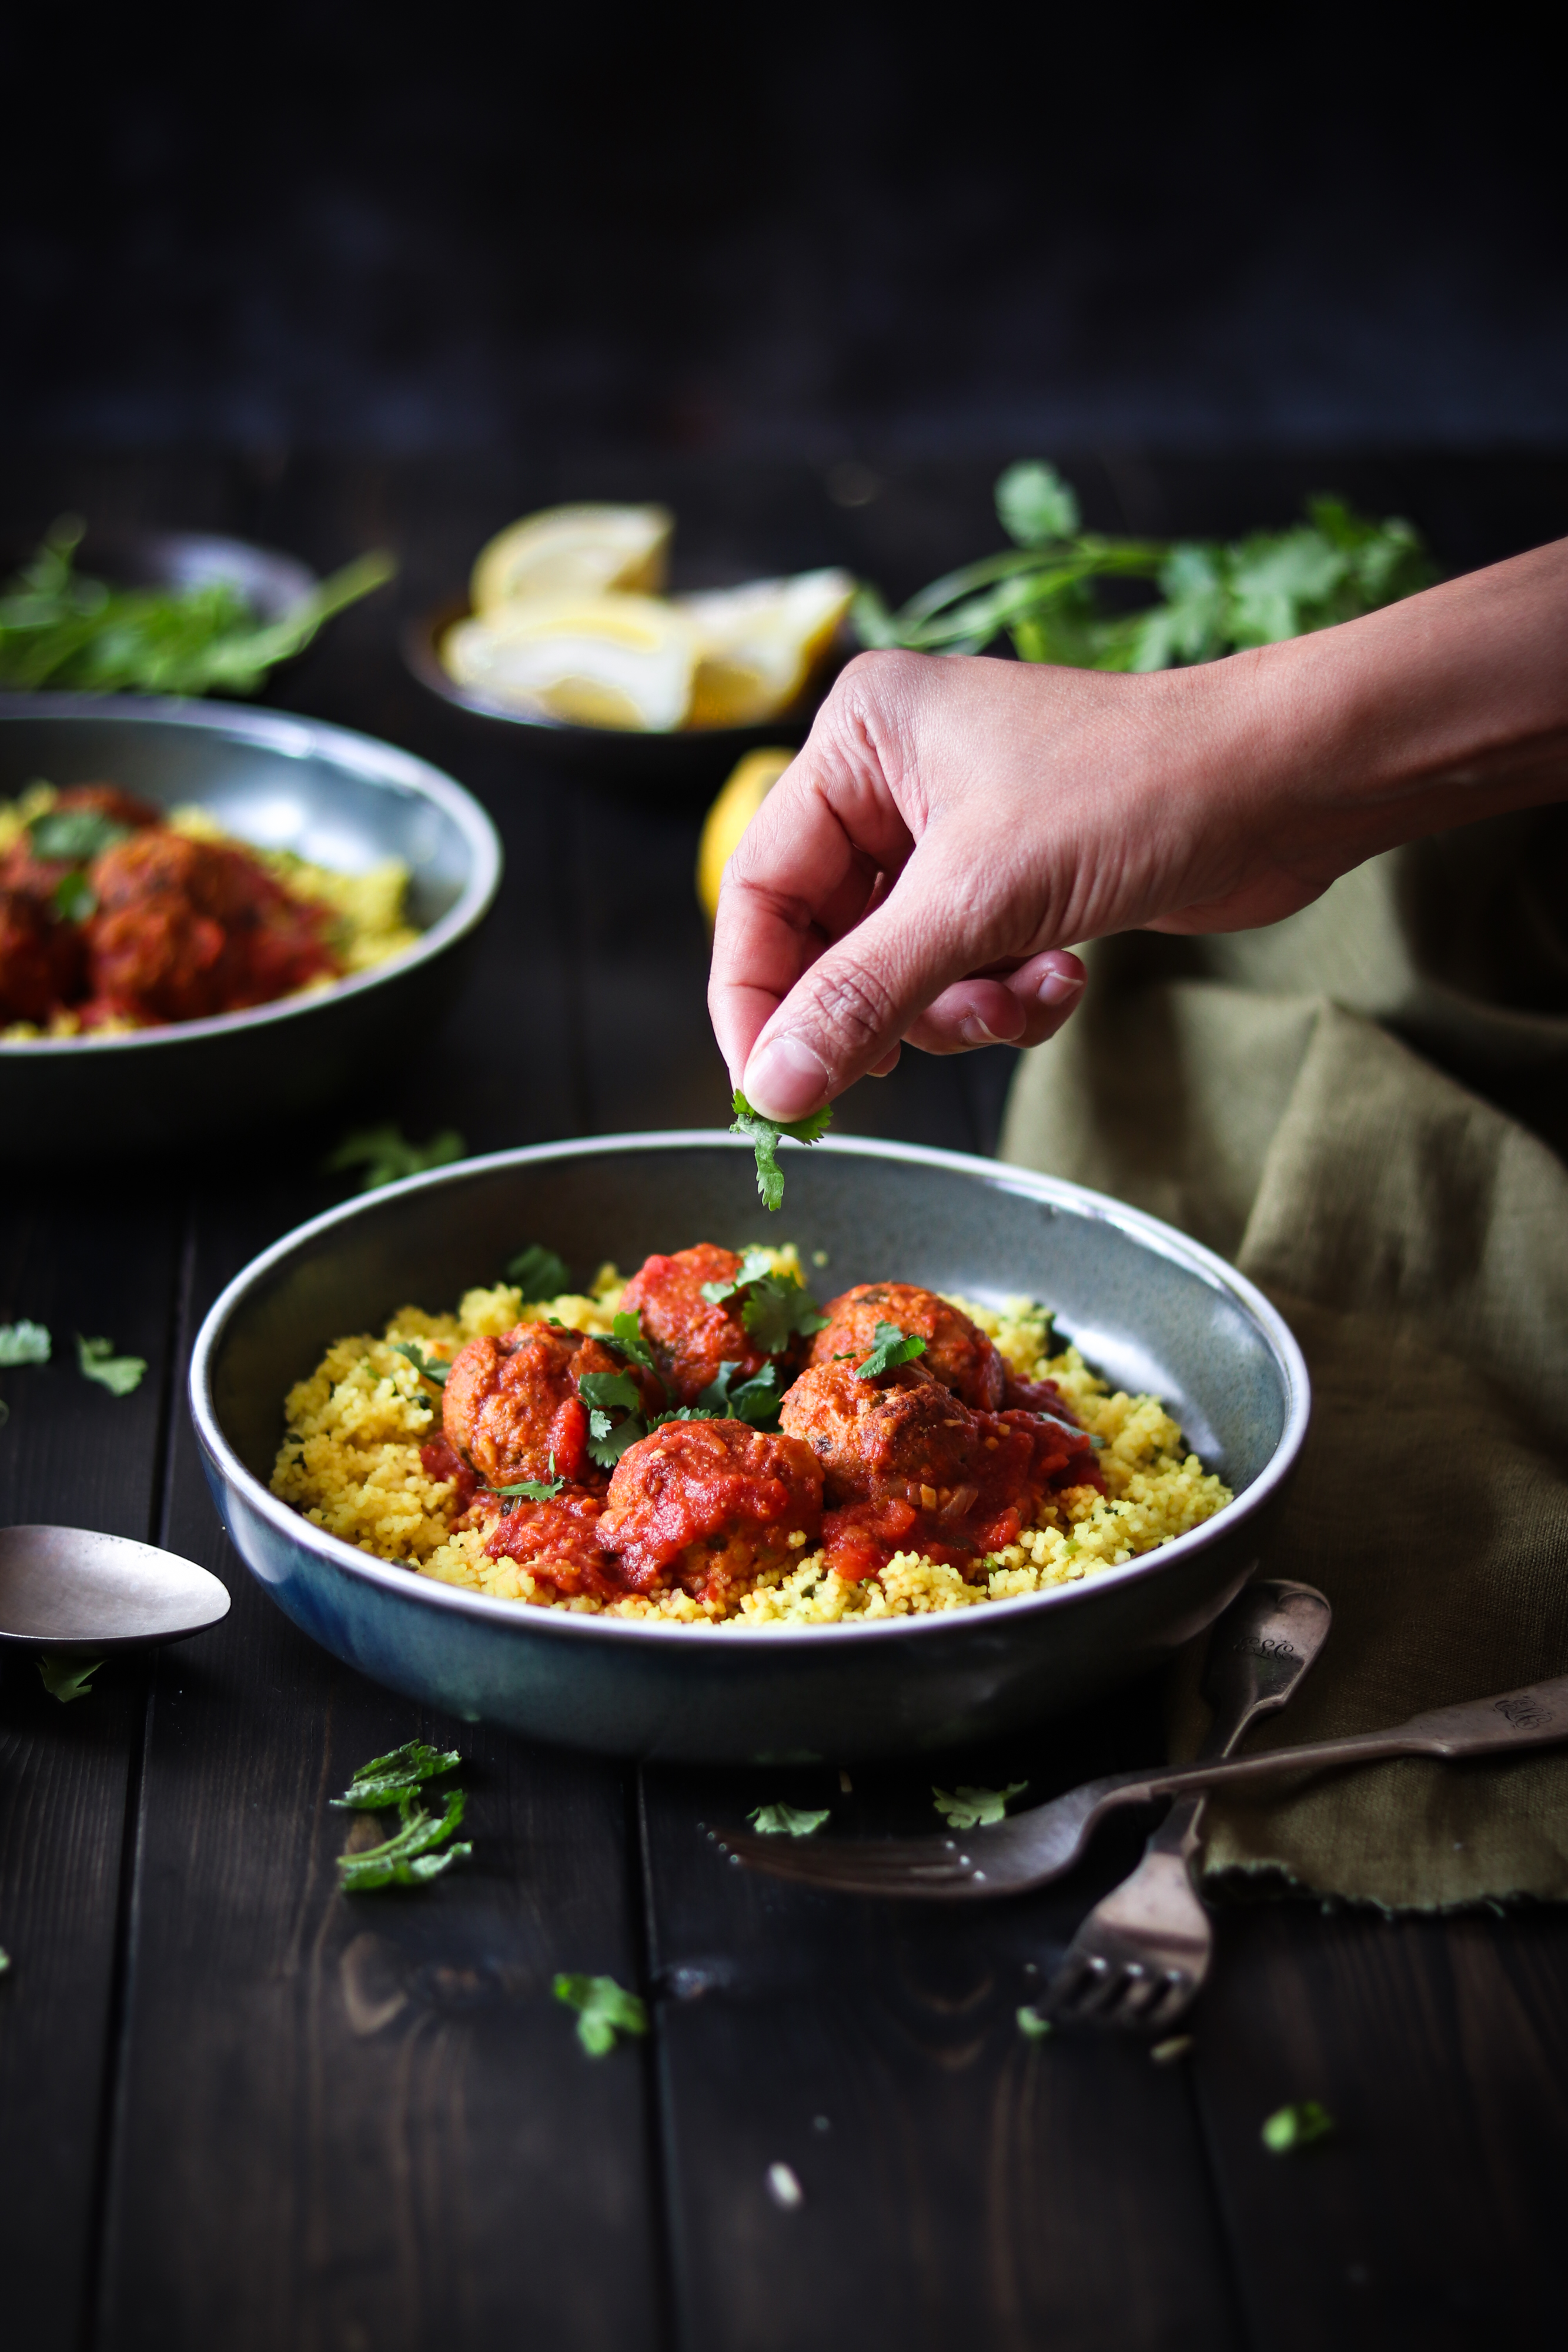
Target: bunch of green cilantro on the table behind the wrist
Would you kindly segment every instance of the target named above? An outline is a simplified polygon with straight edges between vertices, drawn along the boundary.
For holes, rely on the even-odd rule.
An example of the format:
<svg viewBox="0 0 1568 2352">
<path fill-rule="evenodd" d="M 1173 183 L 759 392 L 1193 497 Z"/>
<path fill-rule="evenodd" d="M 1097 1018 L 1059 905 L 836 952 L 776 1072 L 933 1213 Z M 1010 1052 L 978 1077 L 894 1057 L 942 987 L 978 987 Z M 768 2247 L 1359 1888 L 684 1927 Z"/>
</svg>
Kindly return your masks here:
<svg viewBox="0 0 1568 2352">
<path fill-rule="evenodd" d="M 997 517 L 1013 546 L 945 574 L 903 612 L 863 588 L 860 642 L 983 654 L 1011 637 L 1020 661 L 1166 670 L 1354 621 L 1436 579 L 1413 524 L 1368 522 L 1331 496 L 1309 499 L 1288 532 L 1229 543 L 1117 539 L 1084 532 L 1067 482 L 1030 461 L 997 482 Z M 1157 602 L 1107 612 L 1103 581 L 1147 583 Z"/>
</svg>

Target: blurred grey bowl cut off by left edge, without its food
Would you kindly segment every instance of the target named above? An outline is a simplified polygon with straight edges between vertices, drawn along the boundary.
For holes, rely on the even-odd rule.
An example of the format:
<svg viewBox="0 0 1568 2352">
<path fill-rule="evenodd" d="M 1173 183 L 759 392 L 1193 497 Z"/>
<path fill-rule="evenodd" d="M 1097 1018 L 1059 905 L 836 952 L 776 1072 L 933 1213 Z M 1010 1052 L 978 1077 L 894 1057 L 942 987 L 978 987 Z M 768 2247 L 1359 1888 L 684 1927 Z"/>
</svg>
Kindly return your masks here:
<svg viewBox="0 0 1568 2352">
<path fill-rule="evenodd" d="M 200 802 L 259 849 L 346 873 L 402 858 L 416 948 L 306 997 L 127 1037 L 0 1042 L 0 1167 L 216 1141 L 299 1115 L 433 1021 L 489 913 L 501 842 L 477 800 L 390 743 L 280 710 L 0 694 L 0 800 L 35 776 Z"/>
</svg>

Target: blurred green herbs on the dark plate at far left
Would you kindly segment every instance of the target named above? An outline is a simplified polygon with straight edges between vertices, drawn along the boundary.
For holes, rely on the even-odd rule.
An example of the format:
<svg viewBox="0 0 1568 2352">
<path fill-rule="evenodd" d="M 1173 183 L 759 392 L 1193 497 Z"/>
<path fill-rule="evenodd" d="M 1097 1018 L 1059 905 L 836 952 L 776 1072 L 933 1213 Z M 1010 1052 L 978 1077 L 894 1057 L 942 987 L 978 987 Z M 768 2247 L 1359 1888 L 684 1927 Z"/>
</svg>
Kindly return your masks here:
<svg viewBox="0 0 1568 2352">
<path fill-rule="evenodd" d="M 362 555 L 282 621 L 259 621 L 228 581 L 110 588 L 75 569 L 82 524 L 61 517 L 0 590 L 0 687 L 89 694 L 254 694 L 346 604 L 381 588 L 390 555 Z"/>
</svg>

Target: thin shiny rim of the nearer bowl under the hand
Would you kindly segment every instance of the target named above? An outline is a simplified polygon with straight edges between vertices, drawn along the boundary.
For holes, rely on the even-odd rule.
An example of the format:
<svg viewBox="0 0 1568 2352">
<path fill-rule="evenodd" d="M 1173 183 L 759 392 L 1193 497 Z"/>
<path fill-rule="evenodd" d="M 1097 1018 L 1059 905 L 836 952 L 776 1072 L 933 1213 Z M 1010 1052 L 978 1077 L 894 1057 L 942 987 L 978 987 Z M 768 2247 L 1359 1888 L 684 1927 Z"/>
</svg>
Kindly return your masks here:
<svg viewBox="0 0 1568 2352">
<path fill-rule="evenodd" d="M 310 1242 L 355 1216 L 374 1211 L 378 1202 L 409 1192 L 440 1195 L 447 1185 L 461 1185 L 475 1174 L 475 1169 L 527 1169 L 541 1167 L 550 1160 L 583 1157 L 588 1152 L 691 1150 L 693 1145 L 738 1152 L 752 1150 L 745 1136 L 726 1136 L 717 1129 L 649 1129 L 644 1134 L 578 1136 L 564 1143 L 531 1143 L 512 1152 L 487 1152 L 475 1160 L 458 1160 L 428 1176 L 409 1176 L 397 1185 L 383 1185 L 374 1195 L 346 1202 L 341 1209 L 329 1209 L 324 1216 L 315 1216 L 310 1223 L 296 1225 L 294 1232 L 284 1232 L 280 1242 L 273 1242 L 270 1249 L 263 1249 L 261 1256 L 252 1258 L 252 1263 L 242 1268 L 228 1289 L 212 1303 L 190 1352 L 190 1418 L 195 1423 L 197 1439 L 219 1465 L 223 1479 L 240 1486 L 249 1508 L 280 1529 L 280 1534 L 296 1543 L 308 1543 L 317 1557 L 327 1559 L 343 1573 L 381 1585 L 404 1599 L 414 1592 L 416 1599 L 433 1609 L 456 1609 L 461 1616 L 473 1616 L 480 1623 L 491 1625 L 520 1628 L 522 1618 L 527 1630 L 538 1630 L 564 1642 L 644 1642 L 649 1637 L 689 1642 L 691 1632 L 701 1628 L 592 1616 L 576 1609 L 531 1609 L 524 1602 L 505 1602 L 489 1592 L 470 1592 L 463 1585 L 437 1583 L 435 1578 L 418 1576 L 414 1569 L 390 1559 L 374 1559 L 369 1552 L 360 1552 L 341 1536 L 331 1536 L 327 1529 L 313 1526 L 313 1522 L 301 1512 L 280 1503 L 277 1496 L 244 1468 L 223 1437 L 212 1395 L 212 1364 L 230 1315 L 240 1308 L 247 1291 L 256 1282 L 261 1282 L 275 1265 L 282 1265 L 303 1242 Z M 980 1160 L 973 1152 L 943 1152 L 922 1143 L 882 1143 L 870 1136 L 827 1136 L 816 1145 L 816 1150 L 832 1152 L 835 1157 L 844 1155 L 872 1162 L 903 1160 L 917 1167 L 952 1169 L 954 1174 L 969 1174 L 983 1183 L 1001 1185 L 1004 1190 L 1025 1192 L 1030 1200 L 1072 1209 L 1079 1216 L 1103 1218 L 1105 1223 L 1128 1232 L 1145 1249 L 1154 1249 L 1159 1256 L 1173 1258 L 1178 1265 L 1185 1265 L 1190 1272 L 1204 1277 L 1215 1289 L 1227 1291 L 1239 1305 L 1244 1305 L 1269 1343 L 1286 1381 L 1286 1425 L 1279 1435 L 1274 1454 L 1253 1484 L 1218 1510 L 1213 1519 L 1204 1519 L 1201 1526 L 1190 1529 L 1185 1536 L 1175 1536 L 1171 1543 L 1157 1545 L 1152 1552 L 1143 1552 L 1138 1559 L 1098 1569 L 1081 1583 L 1056 1585 L 1051 1592 L 1025 1592 L 1013 1599 L 987 1602 L 985 1609 L 966 1609 L 961 1611 L 964 1625 L 973 1625 L 976 1618 L 980 1621 L 980 1628 L 987 1623 L 994 1625 L 999 1611 L 1016 1613 L 1020 1609 L 1086 1606 L 1093 1602 L 1093 1595 L 1103 1592 L 1112 1585 L 1112 1581 L 1117 1585 L 1126 1585 L 1138 1578 L 1159 1576 L 1173 1559 L 1206 1545 L 1213 1529 L 1220 1526 L 1227 1512 L 1246 1508 L 1251 1517 L 1269 1498 L 1269 1494 L 1286 1482 L 1295 1468 L 1295 1458 L 1307 1437 L 1307 1421 L 1312 1416 L 1312 1381 L 1307 1376 L 1307 1362 L 1284 1315 L 1269 1305 L 1262 1291 L 1255 1289 L 1246 1275 L 1239 1275 L 1237 1268 L 1227 1265 L 1213 1249 L 1204 1249 L 1201 1242 L 1190 1242 L 1187 1235 L 1178 1232 L 1173 1225 L 1164 1225 L 1157 1216 L 1147 1216 L 1143 1209 L 1128 1209 L 1126 1202 L 1112 1200 L 1107 1192 L 1091 1192 L 1086 1185 L 1067 1183 L 1060 1176 L 1039 1176 L 1032 1169 L 1018 1169 L 999 1160 Z M 282 1414 L 282 1397 L 277 1399 L 277 1406 Z M 954 1625 L 952 1611 L 931 1611 L 926 1616 L 879 1618 L 875 1623 L 837 1623 L 832 1628 L 738 1625 L 733 1621 L 724 1628 L 726 1639 L 771 1642 L 785 1646 L 820 1642 L 825 1632 L 835 1642 L 912 1642 L 922 1635 L 950 1635 L 954 1632 Z"/>
</svg>

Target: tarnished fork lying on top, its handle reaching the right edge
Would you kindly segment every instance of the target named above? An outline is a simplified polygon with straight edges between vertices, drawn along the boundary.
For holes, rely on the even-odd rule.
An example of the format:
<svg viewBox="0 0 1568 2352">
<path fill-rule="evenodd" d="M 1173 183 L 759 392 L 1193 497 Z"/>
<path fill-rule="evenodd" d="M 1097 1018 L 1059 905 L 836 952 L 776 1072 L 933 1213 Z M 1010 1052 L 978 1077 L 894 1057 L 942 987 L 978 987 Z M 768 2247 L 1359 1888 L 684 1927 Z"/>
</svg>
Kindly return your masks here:
<svg viewBox="0 0 1568 2352">
<path fill-rule="evenodd" d="M 1382 1757 L 1486 1757 L 1568 1740 L 1568 1675 L 1533 1682 L 1523 1691 L 1469 1698 L 1458 1708 L 1413 1715 L 1389 1731 L 1359 1731 L 1342 1740 L 1307 1740 L 1300 1748 L 1265 1748 L 1251 1757 L 1213 1764 L 1178 1764 L 1168 1771 L 1121 1771 L 1086 1780 L 1051 1804 L 1016 1813 L 994 1830 L 978 1830 L 966 1851 L 957 1837 L 898 1837 L 884 1844 L 835 1839 L 816 1849 L 790 1839 L 792 1851 L 773 1851 L 771 1839 L 731 1832 L 715 1839 L 719 1851 L 776 1879 L 835 1886 L 851 1896 L 900 1896 L 924 1903 L 966 1903 L 1016 1896 L 1060 1879 L 1077 1863 L 1107 1813 L 1157 1797 L 1192 1797 L 1215 1788 L 1260 1788 L 1288 1773 L 1316 1773 L 1342 1764 L 1378 1764 Z"/>
</svg>

